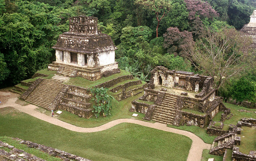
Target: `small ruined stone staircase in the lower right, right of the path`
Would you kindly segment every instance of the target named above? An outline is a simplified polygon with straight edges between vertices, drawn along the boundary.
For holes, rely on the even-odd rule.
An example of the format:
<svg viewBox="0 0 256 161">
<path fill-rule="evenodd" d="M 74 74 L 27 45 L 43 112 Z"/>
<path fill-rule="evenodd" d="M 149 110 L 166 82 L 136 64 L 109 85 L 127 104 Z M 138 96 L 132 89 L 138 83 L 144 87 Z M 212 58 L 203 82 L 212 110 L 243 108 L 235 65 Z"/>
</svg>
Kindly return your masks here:
<svg viewBox="0 0 256 161">
<path fill-rule="evenodd" d="M 223 156 L 225 149 L 233 148 L 235 135 L 235 133 L 230 132 L 215 138 L 211 146 L 210 154 Z"/>
</svg>

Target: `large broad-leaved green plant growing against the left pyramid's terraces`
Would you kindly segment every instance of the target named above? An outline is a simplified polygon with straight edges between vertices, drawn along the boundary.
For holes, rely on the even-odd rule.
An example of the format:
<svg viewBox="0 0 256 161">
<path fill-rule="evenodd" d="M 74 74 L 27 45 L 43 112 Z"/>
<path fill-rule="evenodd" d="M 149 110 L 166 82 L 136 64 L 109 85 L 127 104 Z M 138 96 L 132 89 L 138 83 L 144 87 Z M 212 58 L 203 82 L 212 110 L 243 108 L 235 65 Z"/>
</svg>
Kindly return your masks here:
<svg viewBox="0 0 256 161">
<path fill-rule="evenodd" d="M 93 94 L 93 100 L 95 100 L 95 105 L 93 106 L 92 112 L 94 112 L 94 115 L 96 118 L 98 118 L 100 115 L 103 117 L 106 117 L 107 115 L 110 115 L 110 110 L 112 108 L 111 102 L 114 99 L 113 96 L 108 94 L 108 88 L 91 88 L 90 91 Z"/>
</svg>

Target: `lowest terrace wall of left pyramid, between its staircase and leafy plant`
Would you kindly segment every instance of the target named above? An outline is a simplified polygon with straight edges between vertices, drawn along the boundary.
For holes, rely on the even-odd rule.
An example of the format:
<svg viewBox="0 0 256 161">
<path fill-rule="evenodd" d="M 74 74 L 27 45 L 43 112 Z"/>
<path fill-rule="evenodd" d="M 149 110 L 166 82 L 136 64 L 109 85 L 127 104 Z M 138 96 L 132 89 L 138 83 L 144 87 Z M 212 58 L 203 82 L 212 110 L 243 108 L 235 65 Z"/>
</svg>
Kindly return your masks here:
<svg viewBox="0 0 256 161">
<path fill-rule="evenodd" d="M 91 116 L 93 116 L 93 112 L 91 112 L 93 109 L 91 108 L 79 108 L 76 106 L 67 105 L 63 102 L 59 104 L 59 109 L 71 112 L 72 114 L 78 115 L 86 119 L 89 119 L 91 118 Z"/>
</svg>

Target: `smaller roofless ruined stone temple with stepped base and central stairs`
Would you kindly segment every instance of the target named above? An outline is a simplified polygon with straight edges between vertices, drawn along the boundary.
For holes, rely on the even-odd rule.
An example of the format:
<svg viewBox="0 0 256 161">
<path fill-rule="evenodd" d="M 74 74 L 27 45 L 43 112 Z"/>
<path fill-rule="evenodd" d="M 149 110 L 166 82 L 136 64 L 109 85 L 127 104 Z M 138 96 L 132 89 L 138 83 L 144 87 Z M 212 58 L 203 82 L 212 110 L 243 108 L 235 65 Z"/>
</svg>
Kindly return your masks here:
<svg viewBox="0 0 256 161">
<path fill-rule="evenodd" d="M 146 120 L 205 127 L 219 111 L 230 113 L 222 98 L 215 96 L 213 83 L 213 77 L 157 66 L 144 95 L 132 101 L 130 111 L 146 114 Z"/>
</svg>

